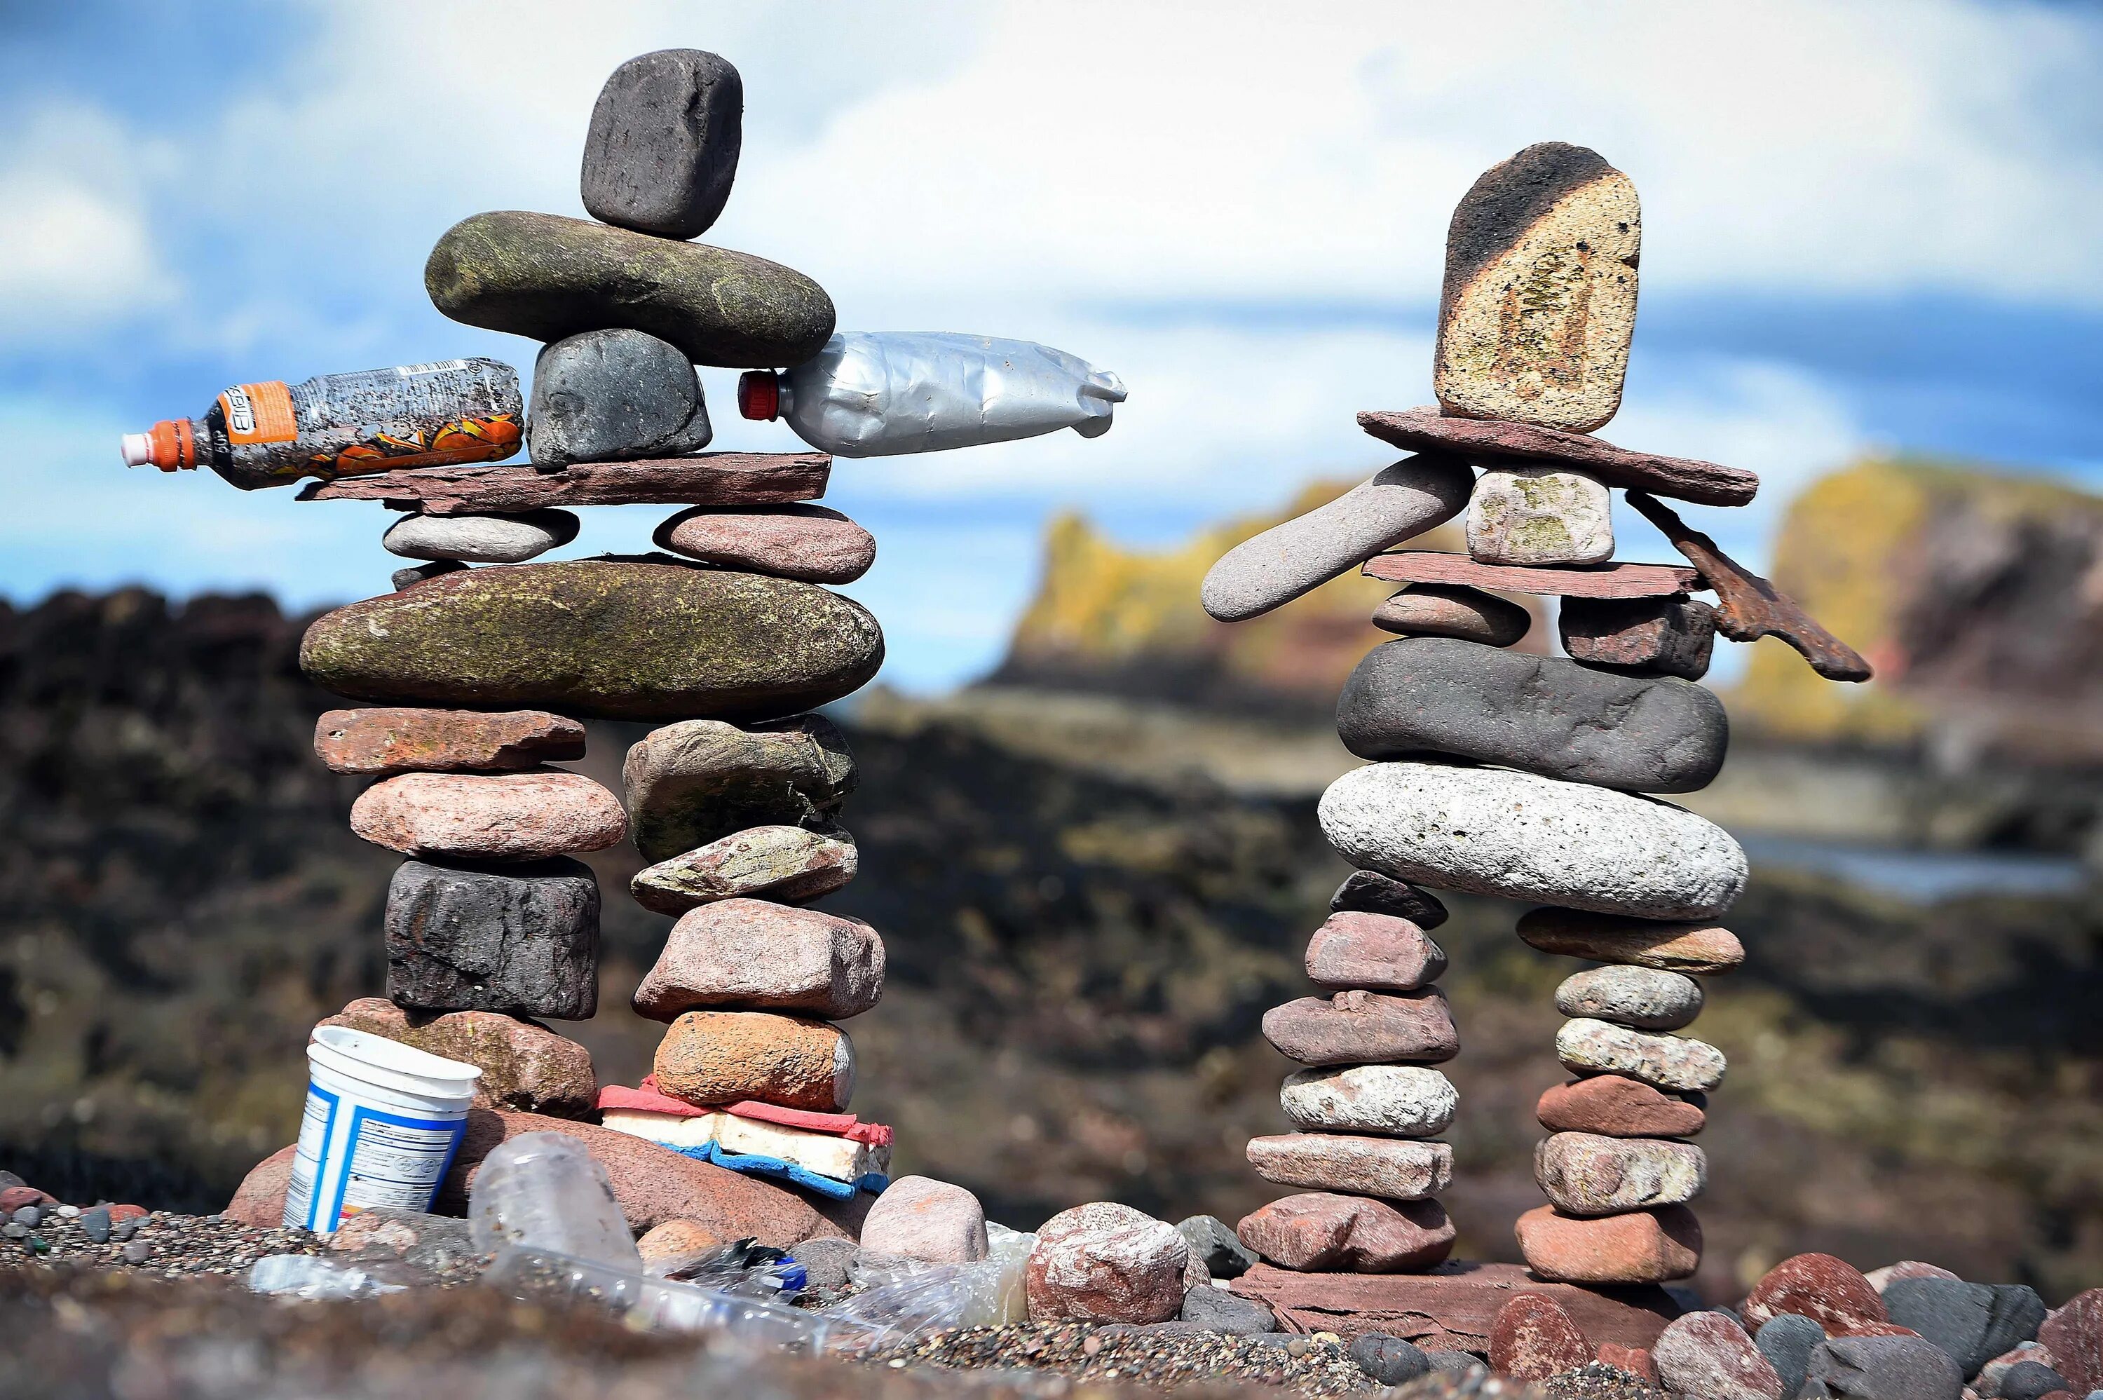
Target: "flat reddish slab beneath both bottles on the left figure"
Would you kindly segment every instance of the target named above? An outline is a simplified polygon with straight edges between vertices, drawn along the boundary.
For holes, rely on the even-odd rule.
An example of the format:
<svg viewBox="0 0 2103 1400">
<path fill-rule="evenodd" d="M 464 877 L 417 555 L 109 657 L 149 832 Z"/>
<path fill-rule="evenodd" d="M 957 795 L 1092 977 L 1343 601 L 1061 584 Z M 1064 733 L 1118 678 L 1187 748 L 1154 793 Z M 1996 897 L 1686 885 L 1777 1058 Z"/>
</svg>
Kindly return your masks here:
<svg viewBox="0 0 2103 1400">
<path fill-rule="evenodd" d="M 473 515 L 572 505 L 787 505 L 816 500 L 833 475 L 829 452 L 702 452 L 648 462 L 524 462 L 418 467 L 311 481 L 301 500 L 385 500 L 395 511 Z"/>
</svg>

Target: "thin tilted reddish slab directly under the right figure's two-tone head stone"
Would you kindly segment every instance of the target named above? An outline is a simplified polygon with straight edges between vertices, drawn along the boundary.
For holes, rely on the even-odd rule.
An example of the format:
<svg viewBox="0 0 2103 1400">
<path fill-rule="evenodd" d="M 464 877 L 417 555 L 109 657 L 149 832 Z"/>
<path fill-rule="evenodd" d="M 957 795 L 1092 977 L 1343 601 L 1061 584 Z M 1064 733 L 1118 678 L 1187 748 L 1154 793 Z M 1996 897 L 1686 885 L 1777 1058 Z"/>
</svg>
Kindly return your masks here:
<svg viewBox="0 0 2103 1400">
<path fill-rule="evenodd" d="M 1760 477 L 1743 467 L 1630 452 L 1590 433 L 1565 433 L 1531 423 L 1445 418 L 1436 408 L 1407 408 L 1363 412 L 1359 427 L 1380 441 L 1411 452 L 1451 452 L 1478 467 L 1573 467 L 1607 486 L 1628 486 L 1701 505 L 1745 505 L 1760 490 Z"/>
</svg>

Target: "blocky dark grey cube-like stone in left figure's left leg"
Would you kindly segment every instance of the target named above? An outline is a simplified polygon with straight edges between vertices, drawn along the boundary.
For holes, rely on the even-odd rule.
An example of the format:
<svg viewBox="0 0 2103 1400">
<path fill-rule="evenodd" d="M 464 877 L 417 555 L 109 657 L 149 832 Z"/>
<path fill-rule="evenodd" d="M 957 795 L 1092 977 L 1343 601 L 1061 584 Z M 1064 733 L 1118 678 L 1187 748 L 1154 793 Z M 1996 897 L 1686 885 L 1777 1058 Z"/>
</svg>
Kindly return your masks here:
<svg viewBox="0 0 2103 1400">
<path fill-rule="evenodd" d="M 387 887 L 387 996 L 416 1011 L 589 1020 L 599 1005 L 591 866 L 404 860 Z"/>
</svg>

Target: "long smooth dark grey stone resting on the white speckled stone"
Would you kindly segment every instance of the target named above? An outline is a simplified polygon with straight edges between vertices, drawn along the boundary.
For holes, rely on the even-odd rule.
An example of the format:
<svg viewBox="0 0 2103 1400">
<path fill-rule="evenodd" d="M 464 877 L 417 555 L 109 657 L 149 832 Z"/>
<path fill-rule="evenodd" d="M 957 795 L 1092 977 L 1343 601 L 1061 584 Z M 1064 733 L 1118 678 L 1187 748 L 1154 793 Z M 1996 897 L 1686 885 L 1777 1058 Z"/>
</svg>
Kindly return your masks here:
<svg viewBox="0 0 2103 1400">
<path fill-rule="evenodd" d="M 1361 759 L 1455 755 L 1630 792 L 1703 788 L 1731 742 L 1722 702 L 1691 681 L 1453 637 L 1373 647 L 1344 681 L 1335 729 Z"/>
</svg>

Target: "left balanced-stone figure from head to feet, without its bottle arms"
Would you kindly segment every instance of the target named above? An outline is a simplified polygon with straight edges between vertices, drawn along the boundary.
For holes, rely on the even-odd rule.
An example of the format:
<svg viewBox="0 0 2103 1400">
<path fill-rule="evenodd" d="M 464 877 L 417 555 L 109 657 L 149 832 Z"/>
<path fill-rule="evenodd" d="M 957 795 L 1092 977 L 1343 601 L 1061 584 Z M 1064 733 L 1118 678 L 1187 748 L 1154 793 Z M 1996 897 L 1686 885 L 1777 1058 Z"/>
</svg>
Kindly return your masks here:
<svg viewBox="0 0 2103 1400">
<path fill-rule="evenodd" d="M 810 715 L 869 681 L 883 633 L 820 584 L 875 540 L 820 496 L 831 458 L 702 454 L 694 364 L 795 366 L 833 334 L 814 282 L 686 242 L 736 172 L 742 84 L 698 50 L 644 55 L 599 95 L 583 160 L 597 219 L 475 214 L 431 252 L 446 315 L 545 341 L 532 465 L 391 471 L 305 500 L 408 511 L 383 544 L 425 563 L 320 618 L 315 750 L 376 778 L 351 809 L 406 860 L 387 891 L 387 998 L 334 1017 L 484 1068 L 482 1104 L 587 1118 L 740 1171 L 852 1198 L 881 1190 L 890 1131 L 843 1110 L 837 1028 L 883 990 L 883 940 L 803 908 L 856 872 L 835 824 L 854 788 L 839 729 Z M 686 507 L 660 555 L 530 559 L 572 540 L 564 507 Z M 627 801 L 574 771 L 578 719 L 673 721 L 637 742 Z M 654 1083 L 599 1089 L 589 1053 L 532 1017 L 597 1007 L 599 889 L 580 851 L 633 837 L 633 898 L 677 923 L 635 992 L 669 1022 Z M 507 1131 L 551 1127 L 522 1120 Z M 589 1129 L 587 1129 L 589 1131 Z M 486 1150 L 486 1146 L 484 1146 Z"/>
</svg>

